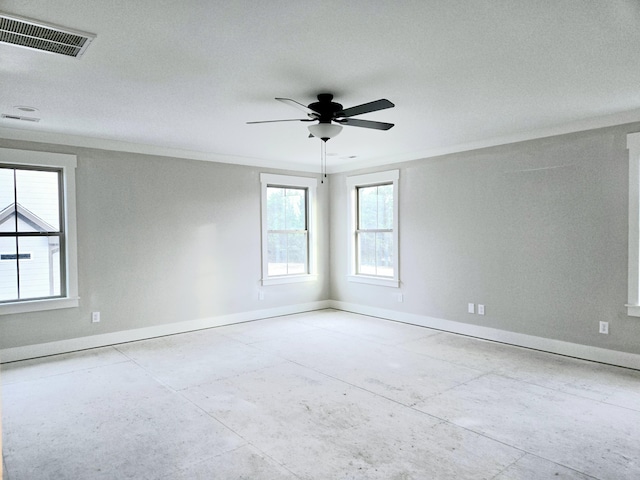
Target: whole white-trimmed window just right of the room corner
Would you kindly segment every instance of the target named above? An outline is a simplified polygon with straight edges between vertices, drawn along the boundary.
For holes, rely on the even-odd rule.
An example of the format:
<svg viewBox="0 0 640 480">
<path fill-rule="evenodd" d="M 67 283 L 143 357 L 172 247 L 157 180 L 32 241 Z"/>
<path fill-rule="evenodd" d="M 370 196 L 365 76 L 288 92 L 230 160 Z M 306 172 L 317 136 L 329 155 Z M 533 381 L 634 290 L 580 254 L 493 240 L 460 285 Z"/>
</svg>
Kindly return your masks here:
<svg viewBox="0 0 640 480">
<path fill-rule="evenodd" d="M 398 170 L 347 177 L 350 281 L 399 286 L 398 178 Z"/>
</svg>

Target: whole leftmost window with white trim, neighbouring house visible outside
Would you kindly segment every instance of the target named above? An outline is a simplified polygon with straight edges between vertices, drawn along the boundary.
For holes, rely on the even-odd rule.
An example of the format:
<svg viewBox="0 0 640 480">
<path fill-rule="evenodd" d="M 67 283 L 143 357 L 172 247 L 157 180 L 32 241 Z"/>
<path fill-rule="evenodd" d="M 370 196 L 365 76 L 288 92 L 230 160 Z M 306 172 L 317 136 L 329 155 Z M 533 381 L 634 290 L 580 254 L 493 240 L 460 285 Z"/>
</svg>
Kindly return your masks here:
<svg viewBox="0 0 640 480">
<path fill-rule="evenodd" d="M 75 166 L 0 149 L 0 314 L 78 305 Z"/>
</svg>

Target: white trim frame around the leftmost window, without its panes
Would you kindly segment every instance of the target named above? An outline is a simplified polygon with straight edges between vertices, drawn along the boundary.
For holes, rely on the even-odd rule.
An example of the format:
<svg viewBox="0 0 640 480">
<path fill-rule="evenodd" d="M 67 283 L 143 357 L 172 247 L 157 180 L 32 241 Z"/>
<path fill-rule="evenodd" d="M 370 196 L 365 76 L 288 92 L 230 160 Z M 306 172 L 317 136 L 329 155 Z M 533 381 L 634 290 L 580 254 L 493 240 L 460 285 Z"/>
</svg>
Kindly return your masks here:
<svg viewBox="0 0 640 480">
<path fill-rule="evenodd" d="M 76 229 L 76 166 L 75 155 L 30 150 L 0 148 L 0 163 L 30 167 L 53 167 L 62 169 L 65 221 L 65 269 L 66 295 L 58 298 L 19 300 L 0 303 L 0 315 L 28 313 L 59 308 L 73 308 L 79 304 L 78 297 L 78 244 Z"/>
</svg>

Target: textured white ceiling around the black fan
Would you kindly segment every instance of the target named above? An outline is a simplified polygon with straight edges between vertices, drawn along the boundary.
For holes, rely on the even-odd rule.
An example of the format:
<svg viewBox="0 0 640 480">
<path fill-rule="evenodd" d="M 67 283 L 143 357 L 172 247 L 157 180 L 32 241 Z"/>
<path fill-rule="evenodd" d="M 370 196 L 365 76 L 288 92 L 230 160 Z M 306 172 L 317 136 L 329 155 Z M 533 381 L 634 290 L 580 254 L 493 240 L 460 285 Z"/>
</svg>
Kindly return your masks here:
<svg viewBox="0 0 640 480">
<path fill-rule="evenodd" d="M 0 44 L 0 136 L 319 168 L 276 102 L 388 98 L 328 143 L 329 171 L 640 120 L 637 0 L 3 0 L 97 34 L 80 59 Z M 355 158 L 349 158 L 355 157 Z"/>
</svg>

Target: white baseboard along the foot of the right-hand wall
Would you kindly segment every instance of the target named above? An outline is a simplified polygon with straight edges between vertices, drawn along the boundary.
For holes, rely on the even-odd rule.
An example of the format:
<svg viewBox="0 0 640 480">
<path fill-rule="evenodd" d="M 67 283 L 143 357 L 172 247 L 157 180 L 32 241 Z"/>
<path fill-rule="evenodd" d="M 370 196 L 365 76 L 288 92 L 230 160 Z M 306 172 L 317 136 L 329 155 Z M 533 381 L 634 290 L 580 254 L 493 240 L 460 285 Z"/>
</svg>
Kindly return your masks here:
<svg viewBox="0 0 640 480">
<path fill-rule="evenodd" d="M 608 350 L 606 348 L 591 347 L 577 343 L 563 342 L 561 340 L 535 337 L 532 335 L 525 335 L 523 333 L 508 332 L 506 330 L 498 330 L 496 328 L 482 327 L 468 323 L 454 322 L 452 320 L 398 312 L 395 310 L 386 310 L 354 303 L 340 302 L 337 300 L 331 300 L 329 304 L 331 308 L 335 308 L 336 310 L 360 313 L 387 320 L 410 323 L 412 325 L 419 325 L 451 333 L 459 333 L 470 337 L 482 338 L 484 340 L 508 343 L 518 347 L 532 348 L 535 350 L 557 353 L 559 355 L 581 358 L 583 360 L 591 360 L 594 362 L 640 370 L 640 355 L 633 353 L 618 352 L 616 350 Z"/>
</svg>

